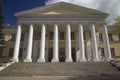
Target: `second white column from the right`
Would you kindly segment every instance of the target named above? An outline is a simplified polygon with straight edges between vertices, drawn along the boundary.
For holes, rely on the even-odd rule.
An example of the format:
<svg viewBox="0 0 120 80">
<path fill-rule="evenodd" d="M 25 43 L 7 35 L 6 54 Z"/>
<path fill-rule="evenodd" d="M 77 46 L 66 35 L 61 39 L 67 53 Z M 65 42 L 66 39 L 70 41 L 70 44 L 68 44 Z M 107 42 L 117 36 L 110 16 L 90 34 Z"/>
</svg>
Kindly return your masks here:
<svg viewBox="0 0 120 80">
<path fill-rule="evenodd" d="M 97 40 L 96 40 L 94 25 L 91 26 L 91 36 L 92 36 L 92 48 L 93 48 L 94 61 L 100 61 L 100 59 L 98 57 Z"/>
</svg>

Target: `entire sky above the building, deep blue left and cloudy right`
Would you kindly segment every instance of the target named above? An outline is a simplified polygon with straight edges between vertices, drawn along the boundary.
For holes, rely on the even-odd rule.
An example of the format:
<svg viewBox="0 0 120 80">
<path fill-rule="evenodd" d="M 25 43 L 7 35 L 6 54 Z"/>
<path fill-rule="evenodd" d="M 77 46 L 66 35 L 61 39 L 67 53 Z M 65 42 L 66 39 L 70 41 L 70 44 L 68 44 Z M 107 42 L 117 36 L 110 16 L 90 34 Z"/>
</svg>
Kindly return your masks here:
<svg viewBox="0 0 120 80">
<path fill-rule="evenodd" d="M 60 1 L 84 6 L 106 12 L 109 17 L 108 24 L 112 24 L 117 16 L 120 16 L 120 0 L 1 0 L 3 6 L 4 24 L 15 25 L 14 14 L 23 10 L 57 3 Z"/>
</svg>

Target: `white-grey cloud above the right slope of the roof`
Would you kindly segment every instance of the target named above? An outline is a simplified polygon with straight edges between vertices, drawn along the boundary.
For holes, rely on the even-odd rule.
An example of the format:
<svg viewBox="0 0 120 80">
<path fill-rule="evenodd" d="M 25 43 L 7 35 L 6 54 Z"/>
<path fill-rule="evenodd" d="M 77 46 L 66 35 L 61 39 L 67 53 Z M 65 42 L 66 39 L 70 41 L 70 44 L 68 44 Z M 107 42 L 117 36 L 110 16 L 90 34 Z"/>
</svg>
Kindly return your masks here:
<svg viewBox="0 0 120 80">
<path fill-rule="evenodd" d="M 48 5 L 60 1 L 109 13 L 110 16 L 106 20 L 108 24 L 112 24 L 114 19 L 117 16 L 120 16 L 120 0 L 48 0 L 45 2 L 45 4 Z"/>
</svg>

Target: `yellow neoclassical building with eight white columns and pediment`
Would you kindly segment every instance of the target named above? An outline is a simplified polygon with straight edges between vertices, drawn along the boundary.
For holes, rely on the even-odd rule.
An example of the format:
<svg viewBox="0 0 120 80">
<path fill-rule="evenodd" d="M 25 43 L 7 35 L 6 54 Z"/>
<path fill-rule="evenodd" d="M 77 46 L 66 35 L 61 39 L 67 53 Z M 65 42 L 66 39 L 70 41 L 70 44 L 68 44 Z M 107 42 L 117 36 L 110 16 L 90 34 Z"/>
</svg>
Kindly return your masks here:
<svg viewBox="0 0 120 80">
<path fill-rule="evenodd" d="M 12 61 L 110 61 L 114 52 L 118 53 L 119 49 L 111 48 L 107 13 L 59 2 L 15 16 L 16 27 L 6 27 L 3 31 L 6 47 L 2 56 L 7 55 Z"/>
</svg>

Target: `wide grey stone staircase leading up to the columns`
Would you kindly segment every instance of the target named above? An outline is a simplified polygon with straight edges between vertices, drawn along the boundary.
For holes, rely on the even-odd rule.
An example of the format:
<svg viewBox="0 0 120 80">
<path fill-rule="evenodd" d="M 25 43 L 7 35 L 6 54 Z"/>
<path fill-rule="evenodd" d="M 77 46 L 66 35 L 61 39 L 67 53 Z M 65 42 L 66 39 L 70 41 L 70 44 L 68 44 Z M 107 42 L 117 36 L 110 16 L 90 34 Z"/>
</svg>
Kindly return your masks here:
<svg viewBox="0 0 120 80">
<path fill-rule="evenodd" d="M 99 80 L 102 80 L 100 78 L 119 77 L 118 80 L 120 80 L 120 71 L 117 68 L 113 67 L 108 62 L 14 63 L 13 65 L 9 66 L 8 68 L 0 72 L 0 77 L 5 77 L 5 76 L 6 77 L 52 76 L 52 78 L 56 76 L 59 77 L 76 76 L 84 79 L 90 77 L 90 78 L 94 78 L 94 80 L 98 80 L 95 78 L 99 78 Z M 80 79 L 80 80 L 84 80 L 84 79 Z"/>
</svg>

